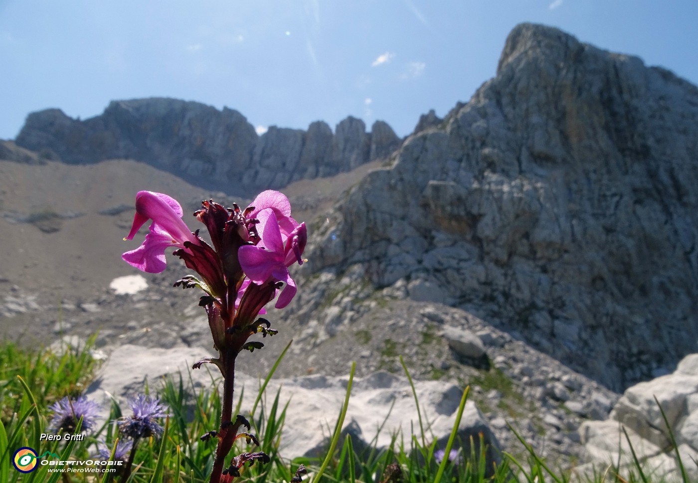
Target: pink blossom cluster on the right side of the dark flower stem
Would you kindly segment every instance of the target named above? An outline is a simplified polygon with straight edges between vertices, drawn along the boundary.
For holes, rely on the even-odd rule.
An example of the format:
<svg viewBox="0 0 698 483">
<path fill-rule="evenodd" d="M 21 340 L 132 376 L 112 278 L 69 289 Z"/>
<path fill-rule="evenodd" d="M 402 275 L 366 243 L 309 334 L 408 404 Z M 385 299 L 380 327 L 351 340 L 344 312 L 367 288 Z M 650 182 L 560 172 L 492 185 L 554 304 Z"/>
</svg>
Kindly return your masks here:
<svg viewBox="0 0 698 483">
<path fill-rule="evenodd" d="M 285 196 L 281 197 L 288 202 Z M 257 198 L 255 202 L 260 196 Z M 288 267 L 294 262 L 303 262 L 300 257 L 306 245 L 307 232 L 305 223 L 298 224 L 290 217 L 290 206 L 288 212 L 281 212 L 284 228 L 276 217 L 277 211 L 279 210 L 274 207 L 267 207 L 257 212 L 260 241 L 255 246 L 241 246 L 238 258 L 240 266 L 253 283 L 262 285 L 276 281 L 285 284 L 275 305 L 277 309 L 283 309 L 296 293 L 296 284 L 288 272 Z M 282 231 L 286 234 L 282 235 Z"/>
</svg>

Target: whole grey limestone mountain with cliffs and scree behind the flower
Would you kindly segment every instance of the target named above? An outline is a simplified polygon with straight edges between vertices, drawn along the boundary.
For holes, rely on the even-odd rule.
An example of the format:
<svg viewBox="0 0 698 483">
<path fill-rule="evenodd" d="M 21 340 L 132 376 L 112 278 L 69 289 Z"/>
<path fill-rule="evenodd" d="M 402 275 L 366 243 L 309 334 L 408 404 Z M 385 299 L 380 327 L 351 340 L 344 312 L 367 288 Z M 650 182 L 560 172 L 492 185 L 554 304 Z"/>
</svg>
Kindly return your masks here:
<svg viewBox="0 0 698 483">
<path fill-rule="evenodd" d="M 581 456 L 579 425 L 608 416 L 609 388 L 698 352 L 697 121 L 692 84 L 532 24 L 468 103 L 406 140 L 353 118 L 258 136 L 238 112 L 172 99 L 30 114 L 0 142 L 0 332 L 210 348 L 198 295 L 172 288 L 176 257 L 145 290 L 110 288 L 135 272 L 119 258 L 138 246 L 121 240 L 133 192 L 191 215 L 283 188 L 309 262 L 244 371 L 266 374 L 290 339 L 280 376 L 344 376 L 354 360 L 362 377 L 400 373 L 404 356 L 415 379 L 473 385 L 507 451 L 515 417 L 536 449 Z"/>
</svg>

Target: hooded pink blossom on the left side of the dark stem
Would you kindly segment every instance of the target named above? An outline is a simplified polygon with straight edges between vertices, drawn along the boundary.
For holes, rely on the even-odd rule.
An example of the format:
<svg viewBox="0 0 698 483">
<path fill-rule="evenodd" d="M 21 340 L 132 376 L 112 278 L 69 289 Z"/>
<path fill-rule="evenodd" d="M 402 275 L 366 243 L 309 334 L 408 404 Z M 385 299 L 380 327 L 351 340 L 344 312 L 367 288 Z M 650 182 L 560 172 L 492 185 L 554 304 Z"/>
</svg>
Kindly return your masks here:
<svg viewBox="0 0 698 483">
<path fill-rule="evenodd" d="M 148 220 L 152 220 L 153 223 L 143 244 L 135 250 L 127 251 L 121 255 L 121 258 L 143 272 L 151 274 L 163 272 L 167 266 L 165 249 L 185 248 L 185 241 L 195 245 L 200 244 L 198 238 L 182 221 L 182 214 L 181 206 L 174 198 L 163 193 L 139 191 L 135 195 L 133 225 L 126 239 L 133 239 Z"/>
</svg>

